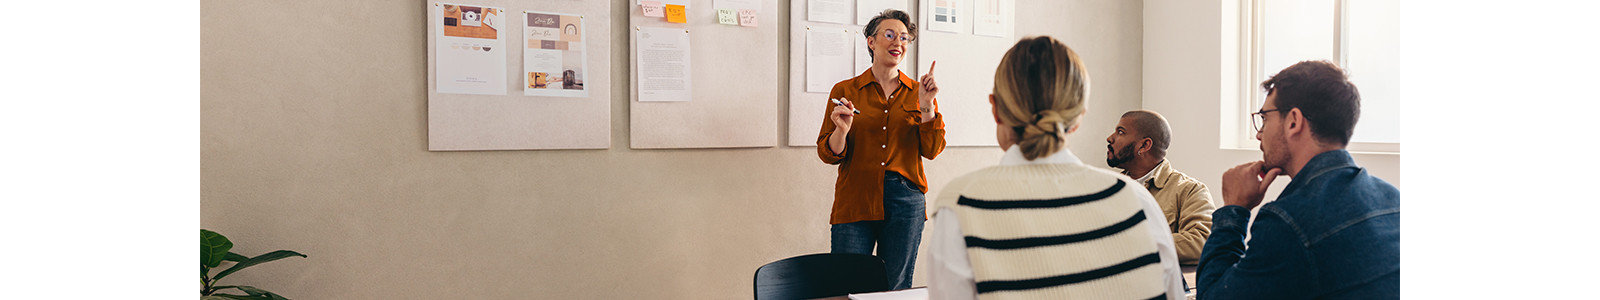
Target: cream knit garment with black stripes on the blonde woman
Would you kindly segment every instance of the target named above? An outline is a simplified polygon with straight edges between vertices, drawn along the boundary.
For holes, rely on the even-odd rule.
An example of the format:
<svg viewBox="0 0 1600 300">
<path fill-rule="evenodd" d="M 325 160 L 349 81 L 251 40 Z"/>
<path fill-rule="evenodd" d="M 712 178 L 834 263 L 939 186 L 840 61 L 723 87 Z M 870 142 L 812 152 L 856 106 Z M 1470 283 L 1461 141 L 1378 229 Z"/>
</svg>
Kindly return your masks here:
<svg viewBox="0 0 1600 300">
<path fill-rule="evenodd" d="M 1166 298 L 1139 185 L 1083 164 L 992 166 L 946 187 L 978 298 Z"/>
</svg>

